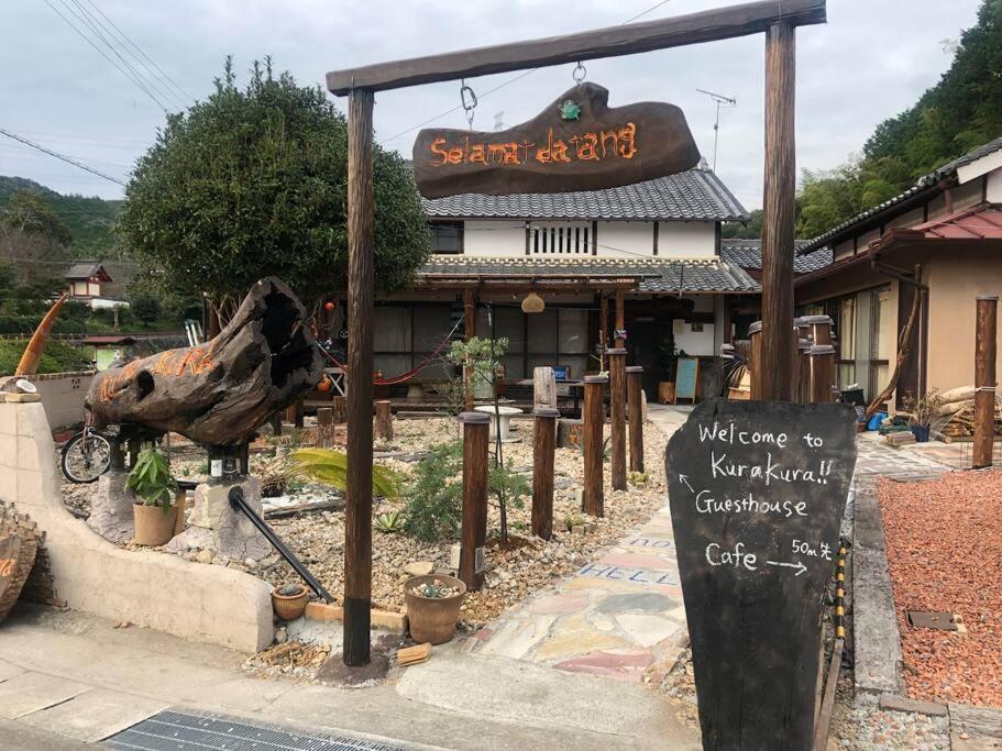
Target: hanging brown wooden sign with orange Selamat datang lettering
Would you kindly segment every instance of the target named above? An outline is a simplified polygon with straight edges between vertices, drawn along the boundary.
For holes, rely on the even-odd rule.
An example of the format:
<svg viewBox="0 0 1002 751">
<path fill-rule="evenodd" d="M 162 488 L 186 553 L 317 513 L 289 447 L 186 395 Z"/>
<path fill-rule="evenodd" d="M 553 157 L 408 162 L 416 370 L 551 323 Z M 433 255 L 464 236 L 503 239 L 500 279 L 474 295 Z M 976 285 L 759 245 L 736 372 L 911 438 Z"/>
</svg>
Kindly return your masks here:
<svg viewBox="0 0 1002 751">
<path fill-rule="evenodd" d="M 581 84 L 532 120 L 505 131 L 432 128 L 414 144 L 426 198 L 615 188 L 691 169 L 700 150 L 682 110 L 664 102 L 608 107 Z"/>
</svg>

